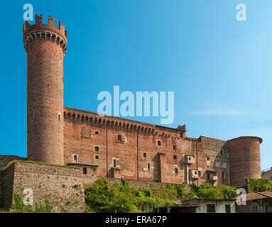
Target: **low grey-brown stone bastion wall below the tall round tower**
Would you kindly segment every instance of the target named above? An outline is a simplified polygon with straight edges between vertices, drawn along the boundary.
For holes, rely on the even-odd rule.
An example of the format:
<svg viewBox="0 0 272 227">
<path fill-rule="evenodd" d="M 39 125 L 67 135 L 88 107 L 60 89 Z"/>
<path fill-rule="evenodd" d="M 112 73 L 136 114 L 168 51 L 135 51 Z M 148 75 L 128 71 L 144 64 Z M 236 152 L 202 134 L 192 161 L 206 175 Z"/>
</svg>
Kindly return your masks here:
<svg viewBox="0 0 272 227">
<path fill-rule="evenodd" d="M 23 190 L 33 190 L 33 204 L 44 204 L 45 199 L 53 205 L 53 212 L 83 212 L 85 198 L 82 172 L 75 167 L 44 165 L 33 162 L 13 162 L 1 172 L 4 199 L 2 207 L 11 208 L 13 194 L 23 194 Z M 3 190 L 4 189 L 4 190 Z"/>
</svg>

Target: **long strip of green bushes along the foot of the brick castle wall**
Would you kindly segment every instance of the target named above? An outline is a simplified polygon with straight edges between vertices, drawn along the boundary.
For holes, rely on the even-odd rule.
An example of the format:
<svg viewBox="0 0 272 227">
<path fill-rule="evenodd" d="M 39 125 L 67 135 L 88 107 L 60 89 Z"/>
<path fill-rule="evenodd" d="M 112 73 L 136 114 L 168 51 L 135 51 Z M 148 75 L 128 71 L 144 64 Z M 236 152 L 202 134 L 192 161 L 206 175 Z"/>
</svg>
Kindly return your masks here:
<svg viewBox="0 0 272 227">
<path fill-rule="evenodd" d="M 236 197 L 236 188 L 222 185 L 214 187 L 210 184 L 197 186 L 191 184 L 191 189 L 185 189 L 185 184 L 172 186 L 166 184 L 159 189 L 129 187 L 125 179 L 122 185 L 109 185 L 107 179 L 99 178 L 94 184 L 85 189 L 87 212 L 148 212 L 158 206 L 180 204 L 182 200 L 232 199 Z"/>
</svg>

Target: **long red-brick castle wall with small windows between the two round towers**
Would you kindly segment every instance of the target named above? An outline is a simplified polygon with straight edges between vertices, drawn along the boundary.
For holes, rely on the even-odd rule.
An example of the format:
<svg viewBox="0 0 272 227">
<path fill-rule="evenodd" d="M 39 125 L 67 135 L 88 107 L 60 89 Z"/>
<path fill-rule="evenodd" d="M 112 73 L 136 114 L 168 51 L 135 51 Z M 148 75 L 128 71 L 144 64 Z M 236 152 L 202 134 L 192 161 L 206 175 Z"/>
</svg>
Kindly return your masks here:
<svg viewBox="0 0 272 227">
<path fill-rule="evenodd" d="M 97 177 L 173 184 L 229 184 L 225 140 L 190 138 L 184 130 L 67 107 L 64 116 L 65 165 L 77 162 L 97 166 Z M 187 155 L 194 161 L 187 164 Z"/>
</svg>

